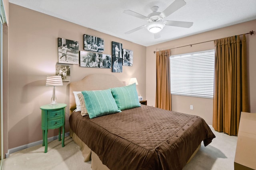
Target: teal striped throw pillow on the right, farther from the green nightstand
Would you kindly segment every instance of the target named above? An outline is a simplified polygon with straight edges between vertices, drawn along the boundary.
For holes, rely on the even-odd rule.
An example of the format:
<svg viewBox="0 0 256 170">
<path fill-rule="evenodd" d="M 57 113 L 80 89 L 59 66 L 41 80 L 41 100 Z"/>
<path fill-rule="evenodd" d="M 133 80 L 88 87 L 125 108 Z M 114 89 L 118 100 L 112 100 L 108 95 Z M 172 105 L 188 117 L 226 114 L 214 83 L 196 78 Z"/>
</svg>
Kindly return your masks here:
<svg viewBox="0 0 256 170">
<path fill-rule="evenodd" d="M 136 84 L 123 87 L 111 88 L 118 109 L 126 110 L 134 107 L 140 107 Z"/>
</svg>

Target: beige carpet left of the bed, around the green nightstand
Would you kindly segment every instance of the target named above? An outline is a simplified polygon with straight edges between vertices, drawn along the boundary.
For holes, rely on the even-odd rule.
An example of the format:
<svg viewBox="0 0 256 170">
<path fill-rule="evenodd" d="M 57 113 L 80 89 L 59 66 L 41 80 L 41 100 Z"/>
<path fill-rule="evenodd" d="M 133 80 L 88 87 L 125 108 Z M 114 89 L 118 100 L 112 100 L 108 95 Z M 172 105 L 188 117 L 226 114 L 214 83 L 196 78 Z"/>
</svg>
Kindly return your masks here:
<svg viewBox="0 0 256 170">
<path fill-rule="evenodd" d="M 66 137 L 65 147 L 58 139 L 49 142 L 47 153 L 37 145 L 10 154 L 3 170 L 91 170 L 91 164 L 84 162 L 80 147 Z"/>
</svg>

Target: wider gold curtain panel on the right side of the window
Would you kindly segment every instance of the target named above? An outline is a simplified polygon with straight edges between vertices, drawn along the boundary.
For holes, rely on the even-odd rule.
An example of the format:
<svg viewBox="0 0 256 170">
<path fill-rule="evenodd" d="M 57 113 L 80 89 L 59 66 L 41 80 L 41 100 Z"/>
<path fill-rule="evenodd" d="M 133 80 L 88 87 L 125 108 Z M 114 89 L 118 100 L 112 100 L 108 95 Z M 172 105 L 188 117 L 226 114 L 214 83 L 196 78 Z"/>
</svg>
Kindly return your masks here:
<svg viewBox="0 0 256 170">
<path fill-rule="evenodd" d="M 213 127 L 237 135 L 241 111 L 249 112 L 246 37 L 214 40 Z"/>
</svg>

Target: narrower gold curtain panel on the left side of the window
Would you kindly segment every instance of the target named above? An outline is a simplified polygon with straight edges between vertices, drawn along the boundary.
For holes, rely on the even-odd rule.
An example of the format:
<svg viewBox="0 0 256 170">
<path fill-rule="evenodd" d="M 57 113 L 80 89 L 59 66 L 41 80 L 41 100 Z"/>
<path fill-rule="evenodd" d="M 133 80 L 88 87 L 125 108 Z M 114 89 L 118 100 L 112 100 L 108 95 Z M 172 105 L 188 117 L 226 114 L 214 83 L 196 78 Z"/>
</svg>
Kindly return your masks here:
<svg viewBox="0 0 256 170">
<path fill-rule="evenodd" d="M 156 52 L 156 107 L 166 110 L 172 110 L 170 53 L 170 49 Z"/>
</svg>

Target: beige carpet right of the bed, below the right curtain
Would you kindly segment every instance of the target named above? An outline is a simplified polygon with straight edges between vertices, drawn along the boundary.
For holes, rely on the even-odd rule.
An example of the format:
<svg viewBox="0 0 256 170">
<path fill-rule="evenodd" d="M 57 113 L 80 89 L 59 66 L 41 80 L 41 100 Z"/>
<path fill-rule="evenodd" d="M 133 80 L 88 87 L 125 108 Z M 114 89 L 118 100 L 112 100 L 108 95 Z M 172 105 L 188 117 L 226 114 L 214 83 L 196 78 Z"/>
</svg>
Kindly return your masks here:
<svg viewBox="0 0 256 170">
<path fill-rule="evenodd" d="M 216 136 L 208 146 L 202 143 L 200 150 L 183 170 L 234 170 L 237 136 L 214 131 Z"/>
</svg>

